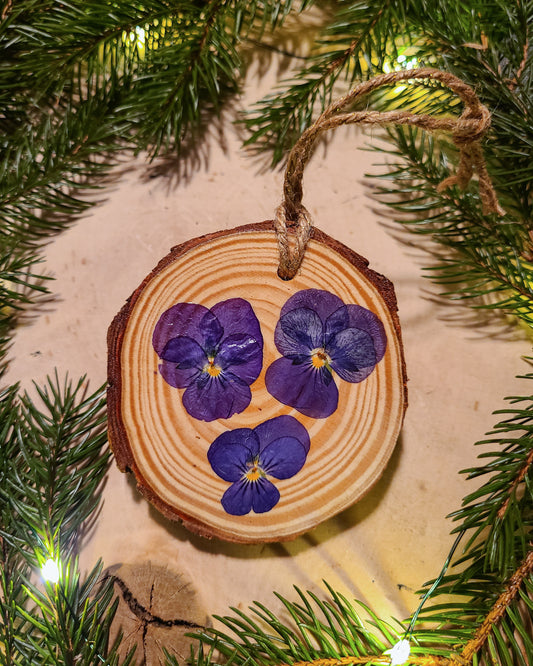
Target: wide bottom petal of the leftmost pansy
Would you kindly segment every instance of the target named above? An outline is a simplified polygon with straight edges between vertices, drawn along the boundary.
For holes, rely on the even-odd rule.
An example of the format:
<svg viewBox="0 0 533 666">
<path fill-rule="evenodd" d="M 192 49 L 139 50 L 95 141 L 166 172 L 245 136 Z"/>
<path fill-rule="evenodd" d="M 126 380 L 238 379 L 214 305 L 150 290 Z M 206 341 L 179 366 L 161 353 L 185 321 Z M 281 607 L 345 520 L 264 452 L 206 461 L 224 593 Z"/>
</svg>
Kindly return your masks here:
<svg viewBox="0 0 533 666">
<path fill-rule="evenodd" d="M 205 382 L 205 376 L 208 380 Z M 201 373 L 200 378 L 189 384 L 183 394 L 183 406 L 200 421 L 229 419 L 243 412 L 252 399 L 249 386 L 231 372 L 210 377 Z M 204 383 L 205 382 L 205 383 Z"/>
</svg>

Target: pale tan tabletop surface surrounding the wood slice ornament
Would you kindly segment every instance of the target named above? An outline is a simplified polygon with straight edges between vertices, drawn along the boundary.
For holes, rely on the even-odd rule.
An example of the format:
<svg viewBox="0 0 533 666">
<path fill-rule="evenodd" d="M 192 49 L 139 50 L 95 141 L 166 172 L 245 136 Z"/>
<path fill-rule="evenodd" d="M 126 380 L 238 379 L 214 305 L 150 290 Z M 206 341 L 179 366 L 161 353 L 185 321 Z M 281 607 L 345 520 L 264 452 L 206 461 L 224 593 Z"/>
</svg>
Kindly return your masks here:
<svg viewBox="0 0 533 666">
<path fill-rule="evenodd" d="M 275 76 L 274 69 L 251 76 L 242 105 Z M 222 123 L 222 142 L 212 130 L 188 178 L 172 170 L 149 177 L 147 161 L 125 160 L 103 202 L 47 247 L 41 270 L 55 277 L 54 298 L 17 331 L 9 380 L 29 387 L 57 368 L 75 380 L 87 373 L 96 389 L 106 379 L 110 321 L 171 246 L 272 218 L 282 174 L 260 172 L 232 120 L 228 114 Z M 492 410 L 521 390 L 514 376 L 525 370 L 520 355 L 529 344 L 500 326 L 473 327 L 460 305 L 434 300 L 436 289 L 421 273 L 428 260 L 393 237 L 367 196 L 363 176 L 383 158 L 358 147 L 375 140 L 370 132 L 337 130 L 307 169 L 304 203 L 317 226 L 395 283 L 410 406 L 382 479 L 361 502 L 293 542 L 242 546 L 209 542 L 170 523 L 113 466 L 83 548 L 84 567 L 98 557 L 106 565 L 167 565 L 195 580 L 209 613 L 254 599 L 279 609 L 273 590 L 295 598 L 293 585 L 323 590 L 323 579 L 378 613 L 404 617 L 416 607 L 414 590 L 438 573 L 452 543 L 445 516 L 473 489 L 458 471 L 474 464 L 479 451 L 472 444 L 496 421 Z"/>
</svg>

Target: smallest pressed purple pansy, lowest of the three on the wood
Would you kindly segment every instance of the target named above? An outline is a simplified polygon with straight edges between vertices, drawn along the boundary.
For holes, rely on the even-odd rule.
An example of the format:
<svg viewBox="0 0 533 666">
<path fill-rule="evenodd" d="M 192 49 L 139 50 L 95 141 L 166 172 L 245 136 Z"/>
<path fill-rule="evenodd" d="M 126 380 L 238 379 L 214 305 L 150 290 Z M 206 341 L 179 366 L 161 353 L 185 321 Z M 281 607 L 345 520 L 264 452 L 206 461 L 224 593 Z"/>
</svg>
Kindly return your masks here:
<svg viewBox="0 0 533 666">
<path fill-rule="evenodd" d="M 303 467 L 309 451 L 307 430 L 292 416 L 277 416 L 251 428 L 219 435 L 207 458 L 215 474 L 231 486 L 222 496 L 224 510 L 234 516 L 265 513 L 280 494 L 268 477 L 290 479 Z"/>
</svg>

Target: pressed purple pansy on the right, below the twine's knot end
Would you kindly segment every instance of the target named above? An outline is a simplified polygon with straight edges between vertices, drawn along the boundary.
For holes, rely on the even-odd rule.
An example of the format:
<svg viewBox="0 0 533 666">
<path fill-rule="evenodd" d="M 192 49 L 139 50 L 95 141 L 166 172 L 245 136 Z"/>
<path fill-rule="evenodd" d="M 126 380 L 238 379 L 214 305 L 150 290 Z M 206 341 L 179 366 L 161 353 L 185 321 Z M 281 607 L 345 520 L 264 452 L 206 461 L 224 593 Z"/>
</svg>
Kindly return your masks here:
<svg viewBox="0 0 533 666">
<path fill-rule="evenodd" d="M 360 305 L 345 305 L 321 289 L 299 291 L 281 309 L 274 342 L 283 354 L 267 369 L 271 395 L 320 419 L 337 409 L 333 373 L 347 382 L 366 379 L 387 347 L 380 319 Z"/>
</svg>

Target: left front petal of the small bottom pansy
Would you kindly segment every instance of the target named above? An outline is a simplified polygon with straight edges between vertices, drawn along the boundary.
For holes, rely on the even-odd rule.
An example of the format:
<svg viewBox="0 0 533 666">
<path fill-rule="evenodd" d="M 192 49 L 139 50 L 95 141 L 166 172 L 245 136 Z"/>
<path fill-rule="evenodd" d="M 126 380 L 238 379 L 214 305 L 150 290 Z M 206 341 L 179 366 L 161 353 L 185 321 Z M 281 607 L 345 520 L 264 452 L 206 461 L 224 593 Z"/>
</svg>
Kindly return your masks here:
<svg viewBox="0 0 533 666">
<path fill-rule="evenodd" d="M 228 430 L 219 435 L 207 451 L 215 474 L 224 481 L 238 481 L 248 471 L 246 463 L 259 454 L 259 439 L 250 428 Z"/>
</svg>

